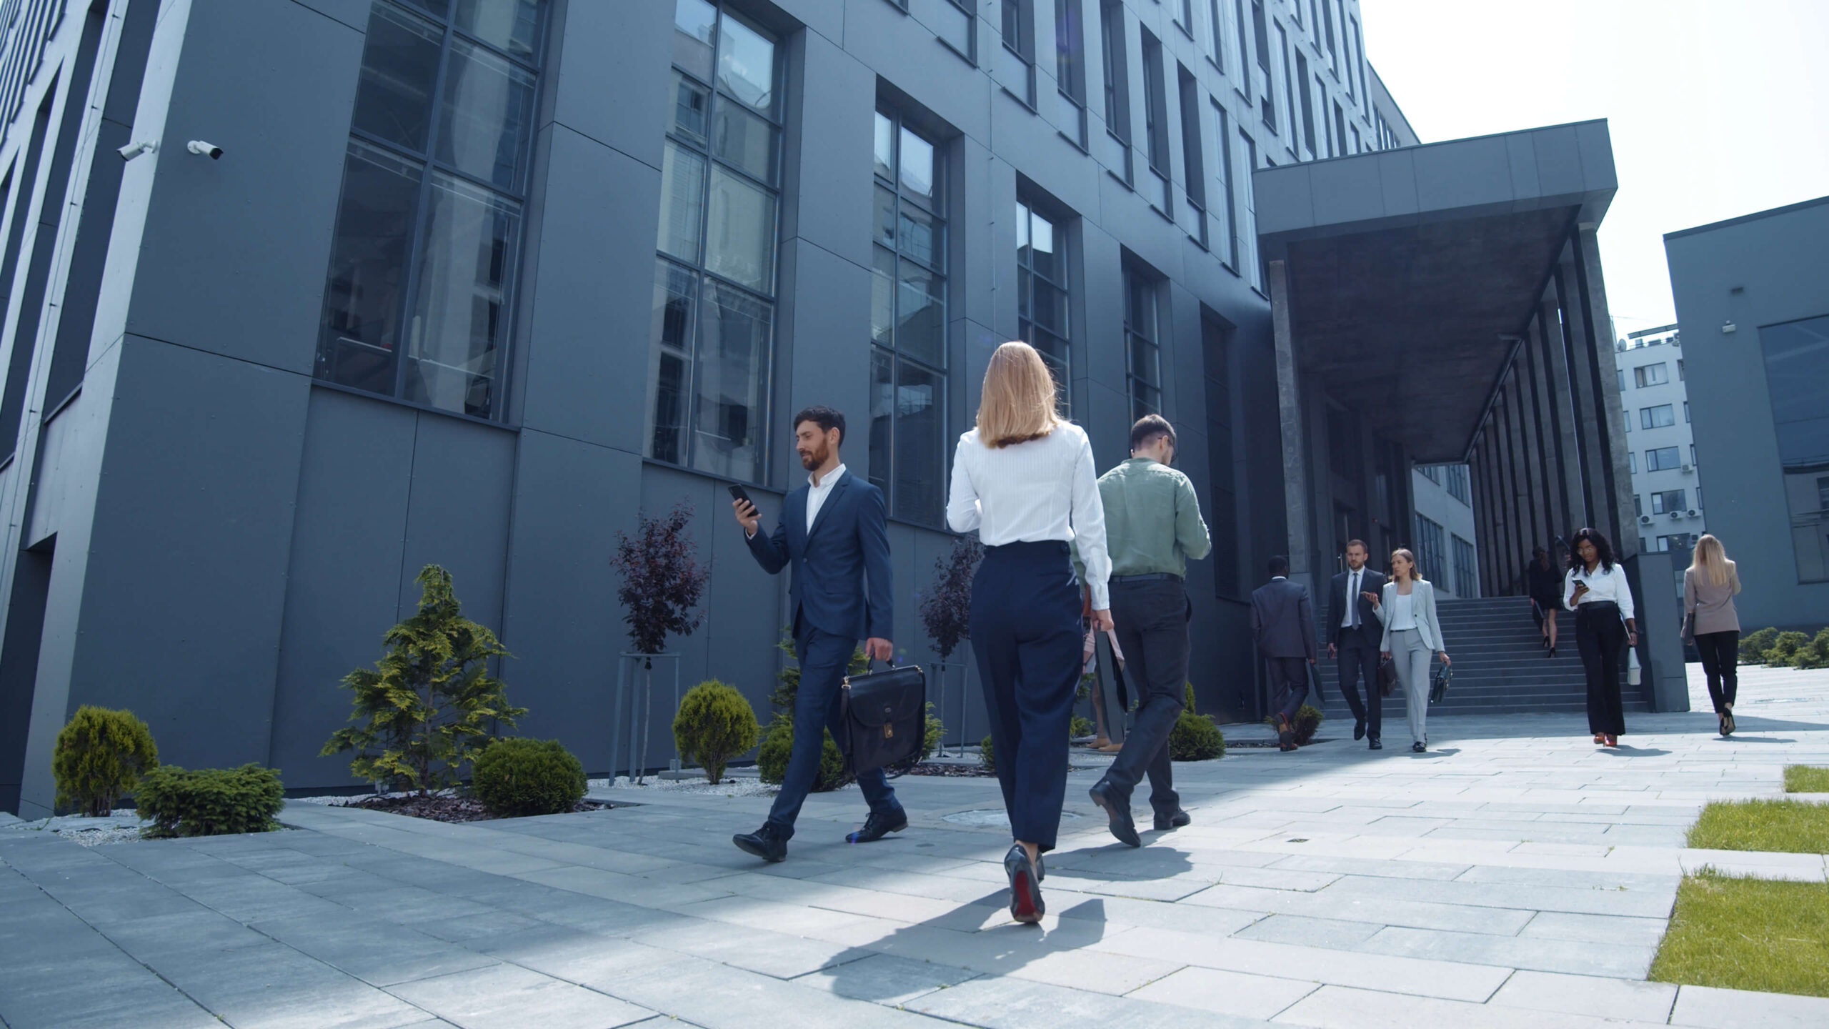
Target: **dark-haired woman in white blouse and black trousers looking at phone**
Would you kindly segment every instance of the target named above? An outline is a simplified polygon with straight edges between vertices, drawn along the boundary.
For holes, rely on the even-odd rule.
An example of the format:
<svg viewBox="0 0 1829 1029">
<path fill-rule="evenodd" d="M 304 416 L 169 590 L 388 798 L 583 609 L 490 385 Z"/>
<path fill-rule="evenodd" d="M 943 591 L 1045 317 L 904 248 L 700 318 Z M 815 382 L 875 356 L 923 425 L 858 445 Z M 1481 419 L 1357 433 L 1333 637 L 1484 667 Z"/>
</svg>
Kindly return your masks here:
<svg viewBox="0 0 1829 1029">
<path fill-rule="evenodd" d="M 1562 606 L 1575 612 L 1575 646 L 1588 674 L 1588 731 L 1595 743 L 1619 747 L 1626 732 L 1619 699 L 1620 644 L 1639 644 L 1639 623 L 1626 569 L 1613 560 L 1613 544 L 1593 529 L 1575 533 Z"/>
</svg>

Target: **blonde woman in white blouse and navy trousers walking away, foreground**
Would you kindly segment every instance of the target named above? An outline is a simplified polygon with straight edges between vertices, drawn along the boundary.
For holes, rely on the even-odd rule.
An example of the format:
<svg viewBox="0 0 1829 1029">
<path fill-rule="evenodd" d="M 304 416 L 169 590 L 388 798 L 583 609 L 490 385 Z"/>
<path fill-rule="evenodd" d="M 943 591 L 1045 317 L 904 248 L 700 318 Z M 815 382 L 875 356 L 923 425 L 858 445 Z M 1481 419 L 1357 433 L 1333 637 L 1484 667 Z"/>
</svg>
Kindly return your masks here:
<svg viewBox="0 0 1829 1029">
<path fill-rule="evenodd" d="M 991 355 L 979 427 L 958 438 L 946 522 L 979 531 L 971 650 L 991 716 L 997 782 L 1015 846 L 1004 855 L 1010 914 L 1041 921 L 1041 855 L 1054 850 L 1066 796 L 1066 742 L 1081 670 L 1079 551 L 1092 628 L 1112 628 L 1105 507 L 1092 443 L 1055 412 L 1054 375 L 1026 342 Z"/>
</svg>

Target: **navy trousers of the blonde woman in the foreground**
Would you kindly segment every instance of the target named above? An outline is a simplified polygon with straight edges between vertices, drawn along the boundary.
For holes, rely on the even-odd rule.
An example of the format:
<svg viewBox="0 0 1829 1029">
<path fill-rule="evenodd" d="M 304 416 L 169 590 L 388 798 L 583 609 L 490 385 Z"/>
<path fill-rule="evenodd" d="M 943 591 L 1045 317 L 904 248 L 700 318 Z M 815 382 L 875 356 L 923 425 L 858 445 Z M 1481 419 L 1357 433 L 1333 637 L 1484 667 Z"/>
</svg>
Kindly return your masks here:
<svg viewBox="0 0 1829 1029">
<path fill-rule="evenodd" d="M 986 547 L 971 580 L 971 650 L 1010 831 L 1041 850 L 1054 850 L 1061 828 L 1083 641 L 1064 542 Z"/>
</svg>

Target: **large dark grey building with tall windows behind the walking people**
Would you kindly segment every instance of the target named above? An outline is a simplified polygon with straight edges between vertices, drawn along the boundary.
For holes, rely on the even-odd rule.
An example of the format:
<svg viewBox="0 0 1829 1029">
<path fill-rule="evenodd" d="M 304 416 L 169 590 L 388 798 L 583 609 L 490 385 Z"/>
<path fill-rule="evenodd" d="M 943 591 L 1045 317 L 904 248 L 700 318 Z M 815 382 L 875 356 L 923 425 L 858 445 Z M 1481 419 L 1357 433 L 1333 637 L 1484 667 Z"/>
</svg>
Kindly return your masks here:
<svg viewBox="0 0 1829 1029">
<path fill-rule="evenodd" d="M 1214 533 L 1191 677 L 1255 718 L 1264 562 L 1405 542 L 1412 458 L 1467 460 L 1491 406 L 1489 381 L 1434 438 L 1289 364 L 1326 289 L 1297 278 L 1275 315 L 1302 262 L 1260 253 L 1264 176 L 1416 143 L 1352 0 L 0 0 L 0 22 L 7 809 L 51 807 L 82 703 L 135 710 L 168 762 L 351 784 L 318 756 L 337 683 L 428 562 L 512 650 L 519 731 L 609 771 L 609 557 L 682 502 L 713 573 L 680 677 L 761 710 L 786 584 L 724 485 L 774 518 L 810 403 L 849 414 L 845 461 L 887 493 L 896 644 L 925 661 L 949 456 L 1006 339 L 1054 364 L 1101 469 L 1138 414 L 1180 427 Z M 975 740 L 960 679 L 949 738 Z M 635 727 L 653 756 L 669 714 Z"/>
</svg>

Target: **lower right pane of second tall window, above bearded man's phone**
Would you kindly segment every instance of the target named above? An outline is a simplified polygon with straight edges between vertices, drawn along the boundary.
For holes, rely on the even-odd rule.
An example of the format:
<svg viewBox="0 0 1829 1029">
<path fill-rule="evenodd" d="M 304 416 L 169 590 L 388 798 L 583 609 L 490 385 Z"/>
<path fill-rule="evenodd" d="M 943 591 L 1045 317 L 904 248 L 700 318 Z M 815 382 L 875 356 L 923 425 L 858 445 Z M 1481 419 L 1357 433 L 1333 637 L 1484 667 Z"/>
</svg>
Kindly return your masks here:
<svg viewBox="0 0 1829 1029">
<path fill-rule="evenodd" d="M 763 478 L 763 414 L 774 309 L 730 286 L 704 284 L 699 361 L 693 368 L 691 467 L 755 482 Z"/>
</svg>

